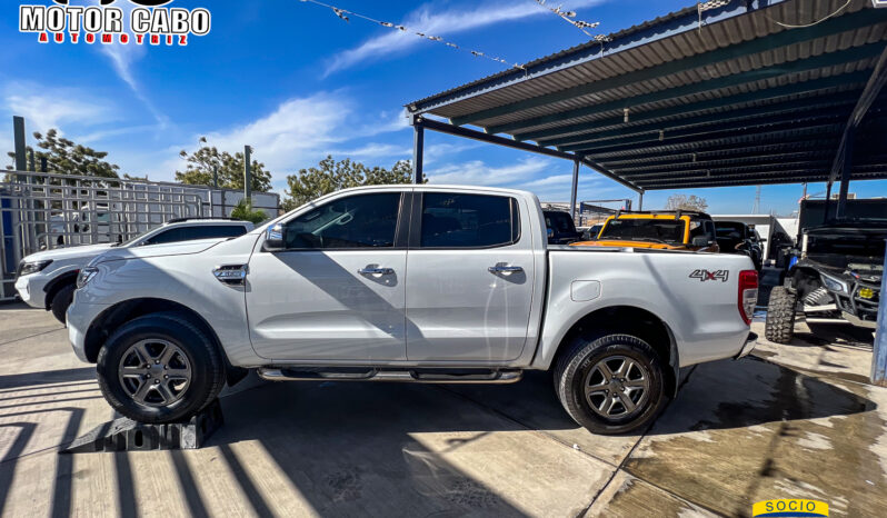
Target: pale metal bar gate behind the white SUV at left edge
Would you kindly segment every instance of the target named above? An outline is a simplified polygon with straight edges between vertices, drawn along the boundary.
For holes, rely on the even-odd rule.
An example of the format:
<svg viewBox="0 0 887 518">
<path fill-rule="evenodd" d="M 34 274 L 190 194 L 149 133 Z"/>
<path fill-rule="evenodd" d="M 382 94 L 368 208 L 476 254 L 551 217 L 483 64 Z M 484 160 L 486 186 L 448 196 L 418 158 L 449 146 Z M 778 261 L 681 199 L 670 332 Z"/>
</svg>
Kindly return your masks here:
<svg viewBox="0 0 887 518">
<path fill-rule="evenodd" d="M 16 296 L 16 270 L 30 253 L 122 242 L 175 218 L 228 216 L 240 198 L 181 183 L 10 171 L 0 182 L 0 300 Z M 278 201 L 277 195 L 253 195 L 268 216 L 276 216 Z"/>
</svg>

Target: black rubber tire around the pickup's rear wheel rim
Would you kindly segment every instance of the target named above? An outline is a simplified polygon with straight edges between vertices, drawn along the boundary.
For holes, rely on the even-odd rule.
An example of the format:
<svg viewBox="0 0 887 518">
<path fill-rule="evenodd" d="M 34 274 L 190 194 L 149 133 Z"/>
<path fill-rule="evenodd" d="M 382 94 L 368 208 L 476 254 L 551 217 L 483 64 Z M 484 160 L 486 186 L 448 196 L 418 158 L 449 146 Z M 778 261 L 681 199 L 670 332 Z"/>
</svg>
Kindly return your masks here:
<svg viewBox="0 0 887 518">
<path fill-rule="evenodd" d="M 642 366 L 649 385 L 646 394 L 636 401 L 634 411 L 621 417 L 606 417 L 591 407 L 592 399 L 586 397 L 585 386 L 595 376 L 592 369 L 597 369 L 601 361 L 619 361 L 619 358 Z M 589 431 L 600 435 L 640 429 L 656 418 L 667 401 L 662 360 L 646 341 L 630 335 L 607 335 L 596 339 L 578 337 L 555 366 L 555 388 L 567 414 Z M 628 410 L 625 406 L 624 409 Z"/>
</svg>

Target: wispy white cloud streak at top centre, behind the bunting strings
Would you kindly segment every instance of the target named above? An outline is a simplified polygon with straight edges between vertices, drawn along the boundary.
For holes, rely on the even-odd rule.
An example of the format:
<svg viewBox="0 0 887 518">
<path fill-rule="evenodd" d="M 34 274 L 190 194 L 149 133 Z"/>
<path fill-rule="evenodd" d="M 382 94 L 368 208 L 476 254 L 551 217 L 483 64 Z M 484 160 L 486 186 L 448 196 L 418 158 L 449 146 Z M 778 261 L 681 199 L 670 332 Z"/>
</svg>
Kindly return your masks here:
<svg viewBox="0 0 887 518">
<path fill-rule="evenodd" d="M 600 3 L 604 0 L 576 0 L 566 2 L 566 9 L 576 9 Z M 450 9 L 442 12 L 431 12 L 429 6 L 422 6 L 418 10 L 407 14 L 400 24 L 413 31 L 421 31 L 432 36 L 448 36 L 459 32 L 470 31 L 495 23 L 520 20 L 527 17 L 555 17 L 547 9 L 539 7 L 535 2 L 502 2 L 487 1 L 471 9 Z M 325 76 L 332 72 L 379 59 L 392 53 L 403 53 L 419 43 L 441 44 L 422 39 L 411 32 L 389 30 L 382 36 L 372 38 L 359 47 L 338 53 L 327 66 Z M 458 42 L 457 42 L 458 43 Z M 484 50 L 484 49 L 478 49 Z"/>
</svg>

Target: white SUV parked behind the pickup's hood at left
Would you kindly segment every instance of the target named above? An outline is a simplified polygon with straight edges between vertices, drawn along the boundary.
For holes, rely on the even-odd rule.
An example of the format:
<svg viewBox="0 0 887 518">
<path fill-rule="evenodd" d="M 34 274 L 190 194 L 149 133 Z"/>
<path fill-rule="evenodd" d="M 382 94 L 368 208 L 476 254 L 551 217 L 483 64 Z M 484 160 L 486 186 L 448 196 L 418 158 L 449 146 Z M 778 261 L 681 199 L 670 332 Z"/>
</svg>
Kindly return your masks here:
<svg viewBox="0 0 887 518">
<path fill-rule="evenodd" d="M 132 248 L 198 239 L 229 239 L 252 230 L 248 221 L 175 219 L 127 242 L 88 245 L 32 253 L 19 263 L 16 289 L 29 306 L 52 311 L 64 323 L 77 275 L 90 260 L 112 248 Z"/>
</svg>

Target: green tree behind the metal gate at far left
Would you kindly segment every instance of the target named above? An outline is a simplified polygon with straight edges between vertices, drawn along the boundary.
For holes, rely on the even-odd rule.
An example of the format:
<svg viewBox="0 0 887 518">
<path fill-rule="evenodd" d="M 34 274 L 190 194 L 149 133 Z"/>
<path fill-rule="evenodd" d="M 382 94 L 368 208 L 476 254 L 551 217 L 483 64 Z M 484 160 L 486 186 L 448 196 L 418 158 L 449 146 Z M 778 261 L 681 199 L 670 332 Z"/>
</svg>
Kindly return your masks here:
<svg viewBox="0 0 887 518">
<path fill-rule="evenodd" d="M 34 132 L 33 138 L 37 139 L 39 149 L 33 149 L 29 146 L 27 156 L 30 160 L 30 152 L 31 150 L 34 151 L 34 165 L 38 168 L 41 160 L 46 158 L 49 172 L 119 178 L 117 171 L 120 167 L 104 161 L 103 159 L 108 156 L 104 151 L 96 151 L 92 148 L 59 137 L 59 131 L 56 129 L 50 129 L 46 136 Z M 16 158 L 16 153 L 12 151 L 8 155 L 12 159 Z M 13 166 L 7 166 L 7 170 L 12 169 L 14 169 Z"/>
</svg>

